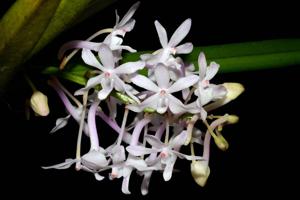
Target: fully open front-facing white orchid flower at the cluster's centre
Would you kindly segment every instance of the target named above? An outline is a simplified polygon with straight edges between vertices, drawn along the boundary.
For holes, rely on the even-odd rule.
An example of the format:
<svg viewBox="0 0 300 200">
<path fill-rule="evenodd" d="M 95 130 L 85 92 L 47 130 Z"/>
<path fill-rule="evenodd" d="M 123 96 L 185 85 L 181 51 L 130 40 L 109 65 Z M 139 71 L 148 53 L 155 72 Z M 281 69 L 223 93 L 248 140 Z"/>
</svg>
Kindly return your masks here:
<svg viewBox="0 0 300 200">
<path fill-rule="evenodd" d="M 145 108 L 152 108 L 160 114 L 165 113 L 168 108 L 174 114 L 186 112 L 182 102 L 173 96 L 172 93 L 194 85 L 199 79 L 198 76 L 190 75 L 170 84 L 170 76 L 166 66 L 158 64 L 155 68 L 155 79 L 157 85 L 142 75 L 136 75 L 131 79 L 135 85 L 152 91 L 154 94 L 144 100 L 140 105 L 129 105 L 128 108 L 135 112 L 141 112 Z"/>
</svg>

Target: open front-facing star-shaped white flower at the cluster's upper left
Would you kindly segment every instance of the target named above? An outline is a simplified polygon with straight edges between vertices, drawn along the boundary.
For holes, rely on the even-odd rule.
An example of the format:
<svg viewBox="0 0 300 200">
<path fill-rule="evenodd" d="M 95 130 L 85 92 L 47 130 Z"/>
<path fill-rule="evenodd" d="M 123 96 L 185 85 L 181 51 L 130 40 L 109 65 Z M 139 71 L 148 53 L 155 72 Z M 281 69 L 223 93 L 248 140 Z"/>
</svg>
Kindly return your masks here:
<svg viewBox="0 0 300 200">
<path fill-rule="evenodd" d="M 86 84 L 86 87 L 78 90 L 75 94 L 83 94 L 84 91 L 87 91 L 90 88 L 101 84 L 102 89 L 98 92 L 98 98 L 100 100 L 106 99 L 110 92 L 113 89 L 116 89 L 117 91 L 125 92 L 131 98 L 139 102 L 138 98 L 136 98 L 127 89 L 126 84 L 120 78 L 120 76 L 124 74 L 135 73 L 137 70 L 142 69 L 145 63 L 143 61 L 128 62 L 115 68 L 113 53 L 105 44 L 102 44 L 99 48 L 99 58 L 103 65 L 99 63 L 95 55 L 90 50 L 82 50 L 82 59 L 84 60 L 84 62 L 88 65 L 96 67 L 103 73 L 90 78 Z"/>
</svg>

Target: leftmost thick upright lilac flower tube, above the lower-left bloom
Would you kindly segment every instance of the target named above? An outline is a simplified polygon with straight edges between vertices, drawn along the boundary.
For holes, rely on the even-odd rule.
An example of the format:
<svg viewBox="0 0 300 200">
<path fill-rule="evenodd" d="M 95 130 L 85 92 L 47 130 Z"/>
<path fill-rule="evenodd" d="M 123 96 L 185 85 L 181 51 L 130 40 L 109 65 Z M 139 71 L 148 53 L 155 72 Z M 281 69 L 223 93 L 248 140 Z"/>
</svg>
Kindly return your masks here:
<svg viewBox="0 0 300 200">
<path fill-rule="evenodd" d="M 96 111 L 99 103 L 100 101 L 96 100 L 90 107 L 89 114 L 88 114 L 88 127 L 89 127 L 89 134 L 90 134 L 91 150 L 99 149 L 99 139 L 97 133 L 96 119 L 95 119 Z"/>
</svg>

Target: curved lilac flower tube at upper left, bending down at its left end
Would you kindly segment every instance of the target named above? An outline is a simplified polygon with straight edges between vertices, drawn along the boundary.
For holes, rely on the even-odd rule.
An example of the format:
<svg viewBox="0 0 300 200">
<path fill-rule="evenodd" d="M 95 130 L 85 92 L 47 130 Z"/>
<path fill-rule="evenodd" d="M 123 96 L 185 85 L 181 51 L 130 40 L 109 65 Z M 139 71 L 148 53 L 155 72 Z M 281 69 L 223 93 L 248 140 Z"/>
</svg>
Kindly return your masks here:
<svg viewBox="0 0 300 200">
<path fill-rule="evenodd" d="M 99 46 L 101 43 L 97 42 L 89 42 L 89 41 L 83 41 L 83 40 L 74 40 L 65 43 L 58 51 L 58 59 L 62 59 L 66 51 L 69 49 L 89 49 L 98 51 Z"/>
</svg>

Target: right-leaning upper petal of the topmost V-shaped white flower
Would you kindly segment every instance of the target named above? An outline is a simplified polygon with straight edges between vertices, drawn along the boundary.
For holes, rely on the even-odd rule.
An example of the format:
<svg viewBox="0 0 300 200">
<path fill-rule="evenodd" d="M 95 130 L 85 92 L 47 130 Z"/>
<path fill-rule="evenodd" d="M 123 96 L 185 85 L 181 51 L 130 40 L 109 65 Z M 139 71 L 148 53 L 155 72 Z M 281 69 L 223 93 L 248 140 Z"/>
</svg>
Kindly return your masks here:
<svg viewBox="0 0 300 200">
<path fill-rule="evenodd" d="M 177 46 L 183 38 L 189 33 L 192 25 L 191 19 L 186 19 L 174 32 L 172 35 L 170 42 L 168 44 L 169 47 Z"/>
</svg>

